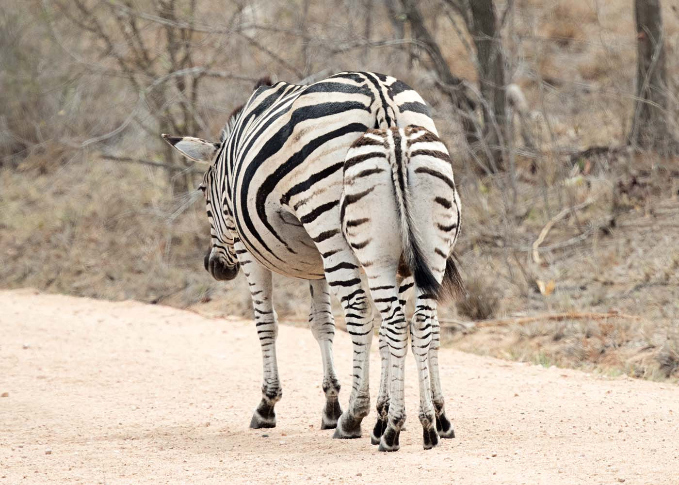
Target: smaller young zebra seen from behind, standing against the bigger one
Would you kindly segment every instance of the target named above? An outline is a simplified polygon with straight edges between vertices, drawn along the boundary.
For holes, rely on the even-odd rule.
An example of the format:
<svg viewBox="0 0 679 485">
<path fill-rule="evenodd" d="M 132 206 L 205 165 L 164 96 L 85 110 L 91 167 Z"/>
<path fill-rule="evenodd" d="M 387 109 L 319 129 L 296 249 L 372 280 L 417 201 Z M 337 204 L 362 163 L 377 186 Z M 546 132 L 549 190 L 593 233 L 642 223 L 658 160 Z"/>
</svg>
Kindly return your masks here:
<svg viewBox="0 0 679 485">
<path fill-rule="evenodd" d="M 454 436 L 443 412 L 437 300 L 462 292 L 452 257 L 460 234 L 460 198 L 452 162 L 439 137 L 420 126 L 392 126 L 356 139 L 344 162 L 340 218 L 382 316 L 382 379 L 371 442 L 383 451 L 399 448 L 409 327 L 420 381 L 424 448 L 433 448 L 439 433 Z M 399 276 L 407 278 L 399 282 Z M 416 307 L 408 325 L 403 304 L 412 287 Z"/>
</svg>

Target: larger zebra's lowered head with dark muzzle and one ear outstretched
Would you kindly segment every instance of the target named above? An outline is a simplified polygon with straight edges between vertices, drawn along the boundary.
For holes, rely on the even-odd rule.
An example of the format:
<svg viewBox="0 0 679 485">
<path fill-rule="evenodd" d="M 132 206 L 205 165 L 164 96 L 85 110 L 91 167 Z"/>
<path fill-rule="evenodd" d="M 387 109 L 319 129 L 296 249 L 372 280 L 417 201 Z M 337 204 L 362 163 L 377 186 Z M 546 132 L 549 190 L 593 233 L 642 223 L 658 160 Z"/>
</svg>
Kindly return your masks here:
<svg viewBox="0 0 679 485">
<path fill-rule="evenodd" d="M 195 162 L 210 164 L 198 187 L 205 196 L 206 212 L 210 221 L 210 249 L 203 263 L 205 269 L 219 281 L 232 280 L 238 274 L 239 264 L 234 249 L 234 225 L 226 203 L 225 171 L 215 167 L 225 143 L 222 132 L 219 143 L 194 137 L 162 137 L 179 152 Z"/>
</svg>

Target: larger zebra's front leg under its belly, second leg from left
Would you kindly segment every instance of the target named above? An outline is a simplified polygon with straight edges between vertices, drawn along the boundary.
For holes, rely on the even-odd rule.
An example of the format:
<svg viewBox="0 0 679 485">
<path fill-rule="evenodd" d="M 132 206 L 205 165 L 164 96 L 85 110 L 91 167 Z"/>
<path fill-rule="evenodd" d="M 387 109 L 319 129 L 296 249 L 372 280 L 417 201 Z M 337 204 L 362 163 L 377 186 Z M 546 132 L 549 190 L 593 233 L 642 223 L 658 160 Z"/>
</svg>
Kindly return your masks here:
<svg viewBox="0 0 679 485">
<path fill-rule="evenodd" d="M 328 282 L 312 280 L 309 283 L 311 293 L 311 312 L 309 324 L 312 334 L 320 346 L 320 356 L 323 359 L 323 392 L 325 393 L 325 407 L 320 421 L 320 429 L 337 427 L 337 420 L 342 414 L 339 406 L 339 380 L 333 364 L 333 337 L 335 336 L 335 320 L 330 304 L 330 288 Z"/>
</svg>

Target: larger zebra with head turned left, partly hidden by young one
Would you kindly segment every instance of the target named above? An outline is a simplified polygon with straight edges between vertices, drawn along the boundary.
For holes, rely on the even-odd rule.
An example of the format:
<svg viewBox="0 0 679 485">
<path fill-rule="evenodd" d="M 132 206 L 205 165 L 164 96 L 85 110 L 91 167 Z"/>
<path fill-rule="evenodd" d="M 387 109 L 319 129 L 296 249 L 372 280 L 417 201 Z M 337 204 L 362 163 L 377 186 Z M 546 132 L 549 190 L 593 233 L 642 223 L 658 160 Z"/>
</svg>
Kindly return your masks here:
<svg viewBox="0 0 679 485">
<path fill-rule="evenodd" d="M 347 71 L 306 86 L 269 84 L 255 86 L 219 142 L 164 138 L 184 156 L 210 163 L 200 186 L 210 221 L 206 269 L 216 279 L 232 279 L 242 268 L 253 295 L 263 384 L 251 427 L 275 426 L 274 405 L 281 397 L 271 283 L 272 272 L 278 272 L 310 281 L 311 327 L 325 369 L 324 427 L 336 426 L 335 438 L 361 437 L 370 406 L 373 312 L 361 265 L 341 230 L 344 158 L 371 128 L 417 125 L 437 131 L 422 97 L 391 76 Z M 331 291 L 353 344 L 352 391 L 336 419 L 340 386 L 332 363 Z M 440 418 L 448 421 L 444 414 Z"/>
</svg>

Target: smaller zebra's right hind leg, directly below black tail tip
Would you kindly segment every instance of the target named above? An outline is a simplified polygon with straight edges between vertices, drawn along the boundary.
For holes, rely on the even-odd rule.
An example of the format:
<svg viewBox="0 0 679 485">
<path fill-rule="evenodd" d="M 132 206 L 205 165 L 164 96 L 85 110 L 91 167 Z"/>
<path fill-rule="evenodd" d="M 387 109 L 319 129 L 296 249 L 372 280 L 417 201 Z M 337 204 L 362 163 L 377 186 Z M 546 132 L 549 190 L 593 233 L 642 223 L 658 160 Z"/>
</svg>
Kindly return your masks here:
<svg viewBox="0 0 679 485">
<path fill-rule="evenodd" d="M 429 378 L 429 352 L 432 342 L 436 300 L 418 291 L 416 292 L 415 313 L 411 320 L 411 348 L 418 367 L 420 381 L 420 423 L 424 431 L 424 449 L 428 450 L 439 444 L 439 435 L 435 428 L 435 412 L 432 401 L 432 386 Z"/>
</svg>

